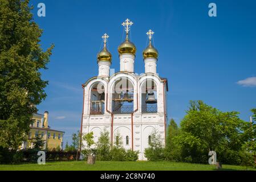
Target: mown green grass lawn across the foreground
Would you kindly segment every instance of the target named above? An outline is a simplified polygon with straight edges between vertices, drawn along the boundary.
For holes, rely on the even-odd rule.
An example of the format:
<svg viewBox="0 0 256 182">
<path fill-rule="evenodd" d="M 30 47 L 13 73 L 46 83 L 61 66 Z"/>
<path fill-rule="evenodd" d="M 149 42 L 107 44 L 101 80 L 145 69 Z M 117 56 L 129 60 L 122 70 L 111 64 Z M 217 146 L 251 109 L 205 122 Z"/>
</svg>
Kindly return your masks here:
<svg viewBox="0 0 256 182">
<path fill-rule="evenodd" d="M 243 166 L 222 165 L 223 170 L 246 170 Z M 248 168 L 249 170 L 256 170 Z M 58 170 L 85 170 L 85 171 L 129 171 L 129 170 L 183 170 L 183 171 L 209 171 L 216 170 L 215 166 L 209 164 L 190 164 L 190 163 L 176 163 L 176 162 L 109 162 L 96 161 L 94 165 L 86 164 L 84 161 L 78 162 L 46 162 L 46 165 L 38 164 L 18 164 L 18 165 L 0 165 L 0 171 L 3 170 L 39 170 L 39 171 L 58 171 Z"/>
</svg>

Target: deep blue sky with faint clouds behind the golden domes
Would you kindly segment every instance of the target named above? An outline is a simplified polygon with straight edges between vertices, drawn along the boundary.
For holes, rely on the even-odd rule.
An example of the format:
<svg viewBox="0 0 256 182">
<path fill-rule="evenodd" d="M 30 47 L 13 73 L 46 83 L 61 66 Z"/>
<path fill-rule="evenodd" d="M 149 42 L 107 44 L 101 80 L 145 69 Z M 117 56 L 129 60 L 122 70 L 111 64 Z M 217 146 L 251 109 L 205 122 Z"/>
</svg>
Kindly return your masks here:
<svg viewBox="0 0 256 182">
<path fill-rule="evenodd" d="M 37 5 L 46 5 L 46 17 Z M 208 5 L 217 5 L 217 17 Z M 249 120 L 256 107 L 256 1 L 82 1 L 35 0 L 34 19 L 44 30 L 42 48 L 55 44 L 48 69 L 47 98 L 39 113 L 49 111 L 50 126 L 66 131 L 64 143 L 79 130 L 82 84 L 97 75 L 96 55 L 101 36 L 109 35 L 112 66 L 119 71 L 117 47 L 122 42 L 121 23 L 134 22 L 132 42 L 137 47 L 135 72 L 144 72 L 142 52 L 146 32 L 154 32 L 159 51 L 157 72 L 168 78 L 168 117 L 177 123 L 189 100 L 203 100 L 222 111 L 239 111 Z M 246 80 L 247 78 L 247 80 Z M 240 81 L 240 82 L 238 82 Z"/>
</svg>

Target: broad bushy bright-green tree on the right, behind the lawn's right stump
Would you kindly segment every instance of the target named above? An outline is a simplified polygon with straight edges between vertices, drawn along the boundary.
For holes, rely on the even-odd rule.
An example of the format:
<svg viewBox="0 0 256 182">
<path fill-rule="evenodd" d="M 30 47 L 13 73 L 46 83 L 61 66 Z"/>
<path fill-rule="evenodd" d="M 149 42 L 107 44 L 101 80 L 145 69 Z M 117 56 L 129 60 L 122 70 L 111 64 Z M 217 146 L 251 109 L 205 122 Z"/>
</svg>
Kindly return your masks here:
<svg viewBox="0 0 256 182">
<path fill-rule="evenodd" d="M 208 152 L 216 151 L 223 163 L 241 163 L 243 121 L 238 112 L 222 112 L 202 101 L 190 101 L 188 111 L 181 121 L 178 138 L 182 158 L 192 162 L 207 163 Z"/>
</svg>

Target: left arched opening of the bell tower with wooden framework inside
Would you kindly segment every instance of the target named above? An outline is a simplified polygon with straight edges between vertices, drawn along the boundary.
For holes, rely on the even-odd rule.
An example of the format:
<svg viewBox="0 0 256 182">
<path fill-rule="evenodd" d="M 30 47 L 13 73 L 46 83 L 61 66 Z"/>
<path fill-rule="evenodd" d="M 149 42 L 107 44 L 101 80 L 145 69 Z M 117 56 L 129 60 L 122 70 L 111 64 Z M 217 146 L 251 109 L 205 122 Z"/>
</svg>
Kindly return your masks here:
<svg viewBox="0 0 256 182">
<path fill-rule="evenodd" d="M 91 114 L 104 114 L 105 89 L 101 82 L 97 82 L 91 89 Z"/>
</svg>

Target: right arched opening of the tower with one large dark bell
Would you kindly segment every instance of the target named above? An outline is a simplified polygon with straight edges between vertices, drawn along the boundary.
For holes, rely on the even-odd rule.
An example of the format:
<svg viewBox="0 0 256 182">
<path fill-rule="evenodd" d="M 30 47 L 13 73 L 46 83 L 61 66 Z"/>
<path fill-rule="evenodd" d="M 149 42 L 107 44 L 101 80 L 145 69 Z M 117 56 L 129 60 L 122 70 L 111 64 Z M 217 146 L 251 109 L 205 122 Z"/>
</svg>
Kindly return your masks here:
<svg viewBox="0 0 256 182">
<path fill-rule="evenodd" d="M 141 113 L 157 113 L 157 85 L 152 79 L 141 85 Z"/>
</svg>

